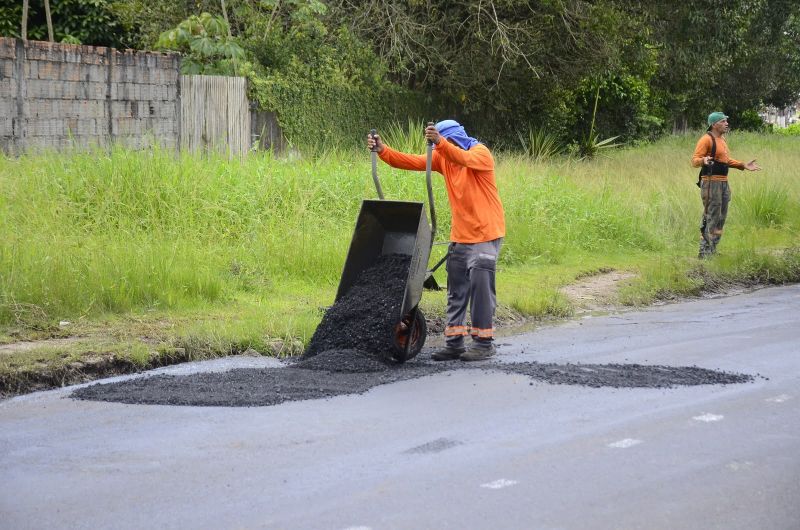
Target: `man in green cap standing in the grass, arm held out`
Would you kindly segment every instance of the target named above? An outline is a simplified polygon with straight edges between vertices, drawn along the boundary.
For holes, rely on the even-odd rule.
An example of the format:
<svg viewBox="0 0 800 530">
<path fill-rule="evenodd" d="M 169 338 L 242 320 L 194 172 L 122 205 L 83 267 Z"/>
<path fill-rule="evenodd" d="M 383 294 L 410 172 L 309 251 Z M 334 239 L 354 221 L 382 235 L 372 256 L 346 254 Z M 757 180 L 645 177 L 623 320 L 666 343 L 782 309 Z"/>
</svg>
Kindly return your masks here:
<svg viewBox="0 0 800 530">
<path fill-rule="evenodd" d="M 760 171 L 755 160 L 748 163 L 734 160 L 728 154 L 728 144 L 723 135 L 728 132 L 728 117 L 722 112 L 708 115 L 708 131 L 697 141 L 692 156 L 692 166 L 702 167 L 700 198 L 703 200 L 703 219 L 700 224 L 700 258 L 717 251 L 722 238 L 722 228 L 728 216 L 731 190 L 728 187 L 728 168 Z"/>
</svg>

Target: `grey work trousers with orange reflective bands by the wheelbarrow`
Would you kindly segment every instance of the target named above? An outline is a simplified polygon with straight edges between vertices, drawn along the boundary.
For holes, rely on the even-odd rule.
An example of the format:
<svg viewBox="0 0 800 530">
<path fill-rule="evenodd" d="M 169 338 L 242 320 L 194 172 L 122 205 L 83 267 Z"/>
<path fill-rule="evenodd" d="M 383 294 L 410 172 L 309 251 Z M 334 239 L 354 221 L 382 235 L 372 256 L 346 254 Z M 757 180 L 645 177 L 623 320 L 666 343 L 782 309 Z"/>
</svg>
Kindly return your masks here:
<svg viewBox="0 0 800 530">
<path fill-rule="evenodd" d="M 485 243 L 450 243 L 444 335 L 451 348 L 463 348 L 467 335 L 482 346 L 494 340 L 495 271 L 502 243 L 502 237 Z M 467 307 L 471 327 L 467 327 Z"/>
</svg>

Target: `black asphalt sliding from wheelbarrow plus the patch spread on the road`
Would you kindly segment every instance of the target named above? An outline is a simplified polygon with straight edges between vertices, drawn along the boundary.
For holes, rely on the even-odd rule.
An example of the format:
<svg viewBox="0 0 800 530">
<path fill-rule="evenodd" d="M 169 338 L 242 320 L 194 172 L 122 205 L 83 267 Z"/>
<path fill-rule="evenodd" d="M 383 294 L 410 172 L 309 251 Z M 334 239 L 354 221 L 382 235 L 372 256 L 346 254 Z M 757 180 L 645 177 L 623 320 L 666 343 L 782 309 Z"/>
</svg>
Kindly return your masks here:
<svg viewBox="0 0 800 530">
<path fill-rule="evenodd" d="M 408 256 L 382 256 L 331 306 L 306 352 L 277 368 L 241 368 L 191 375 L 153 375 L 98 383 L 71 397 L 131 404 L 252 407 L 288 401 L 362 394 L 379 385 L 453 370 L 500 371 L 529 377 L 531 384 L 601 388 L 673 388 L 727 385 L 753 376 L 697 366 L 501 362 L 435 362 L 423 350 L 405 363 L 392 360 Z"/>
</svg>

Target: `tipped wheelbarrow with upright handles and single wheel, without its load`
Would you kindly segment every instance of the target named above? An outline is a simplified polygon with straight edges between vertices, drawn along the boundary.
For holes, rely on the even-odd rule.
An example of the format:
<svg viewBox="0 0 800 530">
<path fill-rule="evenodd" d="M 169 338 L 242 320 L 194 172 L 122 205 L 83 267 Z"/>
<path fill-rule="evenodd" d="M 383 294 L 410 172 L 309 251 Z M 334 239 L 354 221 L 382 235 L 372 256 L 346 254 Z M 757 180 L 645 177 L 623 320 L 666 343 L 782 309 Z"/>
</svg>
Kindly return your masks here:
<svg viewBox="0 0 800 530">
<path fill-rule="evenodd" d="M 370 134 L 374 136 L 377 131 L 373 129 Z M 400 311 L 395 315 L 396 324 L 392 328 L 391 337 L 394 349 L 391 352 L 392 358 L 402 363 L 414 358 L 425 344 L 428 328 L 425 315 L 419 309 L 423 288 L 439 288 L 433 277 L 435 268 L 428 270 L 428 259 L 436 234 L 436 211 L 433 206 L 431 185 L 433 145 L 428 143 L 425 164 L 430 225 L 423 203 L 384 199 L 378 179 L 377 153 L 373 150 L 371 156 L 372 180 L 379 199 L 366 199 L 361 203 L 350 250 L 347 252 L 339 289 L 336 292 L 336 301 L 347 293 L 361 273 L 372 266 L 378 257 L 387 254 L 410 256 L 408 274 L 405 278 L 399 279 L 405 281 L 405 290 Z"/>
</svg>

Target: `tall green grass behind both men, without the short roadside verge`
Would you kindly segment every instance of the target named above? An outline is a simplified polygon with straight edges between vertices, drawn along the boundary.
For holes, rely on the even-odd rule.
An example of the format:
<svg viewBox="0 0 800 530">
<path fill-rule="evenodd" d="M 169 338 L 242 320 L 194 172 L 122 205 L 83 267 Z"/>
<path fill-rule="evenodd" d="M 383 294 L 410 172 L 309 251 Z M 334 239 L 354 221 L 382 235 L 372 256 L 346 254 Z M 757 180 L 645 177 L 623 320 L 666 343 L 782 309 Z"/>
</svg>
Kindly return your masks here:
<svg viewBox="0 0 800 530">
<path fill-rule="evenodd" d="M 422 153 L 422 127 L 409 122 L 385 137 Z M 688 162 L 695 141 L 670 137 L 591 162 L 498 155 L 508 228 L 501 274 L 528 278 L 543 266 L 597 265 L 606 257 L 641 265 L 693 256 L 702 211 Z M 734 156 L 758 158 L 764 170 L 732 171 L 722 253 L 800 244 L 799 142 L 729 139 Z M 427 202 L 423 173 L 384 164 L 379 173 L 387 199 Z M 438 178 L 434 187 L 437 239 L 446 239 L 447 195 Z M 242 299 L 265 307 L 298 288 L 332 292 L 361 200 L 374 196 L 364 151 L 293 161 L 124 149 L 2 158 L 0 323 Z M 434 257 L 441 252 L 435 247 Z M 654 283 L 674 284 L 673 276 L 664 269 Z M 535 301 L 519 282 L 507 285 L 517 286 L 519 308 L 565 311 L 552 292 Z M 273 327 L 291 327 L 289 319 L 308 320 L 315 310 Z"/>
</svg>

